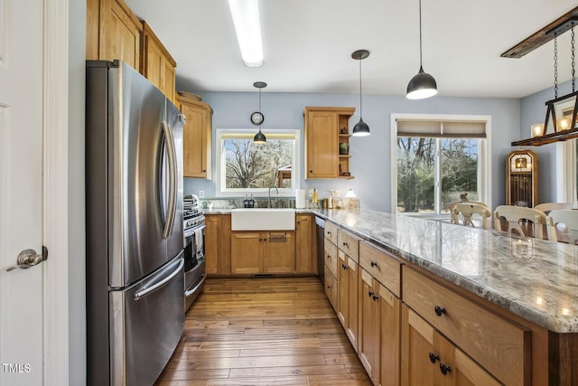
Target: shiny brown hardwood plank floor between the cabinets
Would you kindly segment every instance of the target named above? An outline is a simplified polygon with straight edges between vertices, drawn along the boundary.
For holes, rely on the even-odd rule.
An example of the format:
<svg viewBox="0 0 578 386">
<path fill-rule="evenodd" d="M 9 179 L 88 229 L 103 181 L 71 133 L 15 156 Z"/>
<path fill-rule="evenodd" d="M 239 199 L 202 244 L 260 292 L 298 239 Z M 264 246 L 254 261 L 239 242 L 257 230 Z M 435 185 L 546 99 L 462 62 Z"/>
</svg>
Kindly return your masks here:
<svg viewBox="0 0 578 386">
<path fill-rule="evenodd" d="M 318 278 L 212 278 L 155 385 L 371 381 Z"/>
</svg>

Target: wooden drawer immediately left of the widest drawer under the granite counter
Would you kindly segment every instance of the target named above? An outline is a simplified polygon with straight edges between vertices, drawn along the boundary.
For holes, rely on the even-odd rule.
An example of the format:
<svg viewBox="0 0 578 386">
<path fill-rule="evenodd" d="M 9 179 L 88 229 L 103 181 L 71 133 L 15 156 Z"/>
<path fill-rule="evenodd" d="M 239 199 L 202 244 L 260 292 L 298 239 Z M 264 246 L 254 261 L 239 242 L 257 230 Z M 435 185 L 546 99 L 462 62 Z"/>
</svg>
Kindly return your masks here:
<svg viewBox="0 0 578 386">
<path fill-rule="evenodd" d="M 359 242 L 359 265 L 396 297 L 401 297 L 401 261 L 385 250 Z"/>
</svg>

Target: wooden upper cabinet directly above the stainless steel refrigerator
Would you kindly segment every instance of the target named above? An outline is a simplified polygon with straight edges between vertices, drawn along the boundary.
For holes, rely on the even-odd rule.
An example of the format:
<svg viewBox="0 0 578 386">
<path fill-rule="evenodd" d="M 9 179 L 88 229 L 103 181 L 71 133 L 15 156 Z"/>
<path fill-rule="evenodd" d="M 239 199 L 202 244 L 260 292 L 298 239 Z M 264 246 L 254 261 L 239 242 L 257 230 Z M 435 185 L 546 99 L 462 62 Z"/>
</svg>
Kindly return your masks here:
<svg viewBox="0 0 578 386">
<path fill-rule="evenodd" d="M 139 71 L 142 29 L 123 0 L 87 0 L 87 59 L 118 59 Z"/>
</svg>

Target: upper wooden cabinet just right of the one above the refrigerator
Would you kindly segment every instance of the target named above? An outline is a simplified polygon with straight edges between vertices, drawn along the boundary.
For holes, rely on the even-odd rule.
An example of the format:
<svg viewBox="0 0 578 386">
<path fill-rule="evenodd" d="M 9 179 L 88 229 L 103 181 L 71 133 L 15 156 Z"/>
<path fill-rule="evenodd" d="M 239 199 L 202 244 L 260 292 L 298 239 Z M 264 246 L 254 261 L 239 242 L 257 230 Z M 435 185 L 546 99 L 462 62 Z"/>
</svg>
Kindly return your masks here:
<svg viewBox="0 0 578 386">
<path fill-rule="evenodd" d="M 174 90 L 174 68 L 177 63 L 146 22 L 143 22 L 141 52 L 141 73 L 177 105 Z"/>
</svg>

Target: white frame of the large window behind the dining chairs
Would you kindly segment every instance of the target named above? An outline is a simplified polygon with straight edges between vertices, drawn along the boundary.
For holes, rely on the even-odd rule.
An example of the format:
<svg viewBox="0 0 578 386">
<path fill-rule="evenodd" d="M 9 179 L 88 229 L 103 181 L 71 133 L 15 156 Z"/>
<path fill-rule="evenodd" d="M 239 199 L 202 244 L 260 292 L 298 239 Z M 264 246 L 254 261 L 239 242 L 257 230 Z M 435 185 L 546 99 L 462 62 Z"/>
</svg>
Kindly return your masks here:
<svg viewBox="0 0 578 386">
<path fill-rule="evenodd" d="M 390 155 L 391 155 L 391 213 L 396 215 L 419 216 L 430 218 L 447 218 L 449 213 L 438 213 L 439 202 L 435 202 L 435 213 L 404 213 L 397 212 L 397 119 L 404 120 L 422 120 L 422 121 L 471 121 L 483 122 L 486 125 L 486 138 L 479 139 L 479 168 L 478 168 L 478 195 L 481 202 L 485 202 L 489 208 L 492 208 L 491 202 L 491 117 L 478 115 L 440 115 L 440 114 L 391 114 L 390 115 Z M 439 149 L 438 149 L 439 150 Z M 434 171 L 437 173 L 437 171 Z M 439 175 L 436 175 L 436 181 L 439 181 Z M 437 197 L 440 197 L 438 190 L 441 190 L 438 184 L 435 186 Z"/>
</svg>

